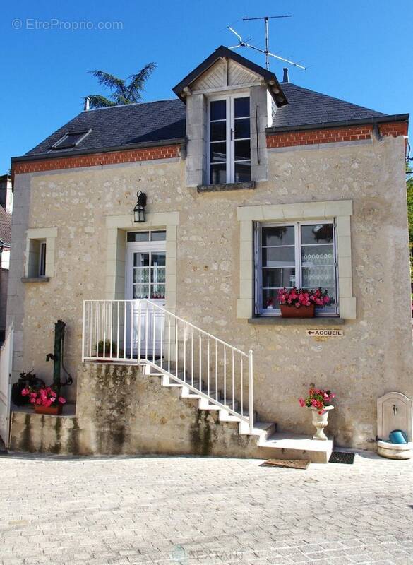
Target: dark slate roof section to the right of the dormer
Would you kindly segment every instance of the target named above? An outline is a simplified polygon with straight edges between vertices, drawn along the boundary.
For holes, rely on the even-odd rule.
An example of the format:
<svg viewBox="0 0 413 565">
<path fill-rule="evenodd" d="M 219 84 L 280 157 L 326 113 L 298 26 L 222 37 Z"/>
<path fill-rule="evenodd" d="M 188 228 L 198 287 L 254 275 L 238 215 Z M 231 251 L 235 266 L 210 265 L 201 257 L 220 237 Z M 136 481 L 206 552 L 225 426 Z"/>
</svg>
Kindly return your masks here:
<svg viewBox="0 0 413 565">
<path fill-rule="evenodd" d="M 371 119 L 387 115 L 339 98 L 317 93 L 315 90 L 302 88 L 293 83 L 282 83 L 282 90 L 287 96 L 288 104 L 277 109 L 273 119 L 273 128 Z"/>
</svg>

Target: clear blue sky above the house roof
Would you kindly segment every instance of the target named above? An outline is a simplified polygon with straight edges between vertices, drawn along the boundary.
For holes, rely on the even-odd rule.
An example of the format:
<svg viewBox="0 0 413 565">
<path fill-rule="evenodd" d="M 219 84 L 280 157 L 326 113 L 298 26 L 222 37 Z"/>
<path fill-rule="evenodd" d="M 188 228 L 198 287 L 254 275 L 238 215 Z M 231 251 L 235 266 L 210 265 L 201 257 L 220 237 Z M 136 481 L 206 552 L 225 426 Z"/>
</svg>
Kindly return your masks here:
<svg viewBox="0 0 413 565">
<path fill-rule="evenodd" d="M 227 25 L 263 47 L 263 23 L 243 16 L 285 13 L 293 17 L 270 23 L 270 49 L 308 66 L 290 69 L 292 82 L 389 114 L 413 112 L 412 0 L 14 0 L 0 18 L 0 174 L 78 114 L 83 96 L 104 93 L 88 71 L 126 77 L 155 61 L 144 99 L 172 98 L 188 71 L 234 44 Z M 100 22 L 121 29 L 96 29 Z M 261 54 L 240 52 L 264 64 Z M 280 79 L 282 66 L 271 61 Z"/>
</svg>

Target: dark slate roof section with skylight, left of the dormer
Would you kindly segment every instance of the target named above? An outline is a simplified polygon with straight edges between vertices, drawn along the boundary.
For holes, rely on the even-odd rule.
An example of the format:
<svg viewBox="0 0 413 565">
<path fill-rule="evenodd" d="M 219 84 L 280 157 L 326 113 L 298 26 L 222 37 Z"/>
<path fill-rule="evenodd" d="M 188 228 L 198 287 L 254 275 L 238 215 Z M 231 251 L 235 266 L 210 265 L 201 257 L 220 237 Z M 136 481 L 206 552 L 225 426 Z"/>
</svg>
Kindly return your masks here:
<svg viewBox="0 0 413 565">
<path fill-rule="evenodd" d="M 76 118 L 36 145 L 26 155 L 82 153 L 134 143 L 169 141 L 185 137 L 186 107 L 181 100 L 158 100 L 81 112 Z M 76 148 L 50 150 L 67 131 L 92 130 Z"/>
</svg>

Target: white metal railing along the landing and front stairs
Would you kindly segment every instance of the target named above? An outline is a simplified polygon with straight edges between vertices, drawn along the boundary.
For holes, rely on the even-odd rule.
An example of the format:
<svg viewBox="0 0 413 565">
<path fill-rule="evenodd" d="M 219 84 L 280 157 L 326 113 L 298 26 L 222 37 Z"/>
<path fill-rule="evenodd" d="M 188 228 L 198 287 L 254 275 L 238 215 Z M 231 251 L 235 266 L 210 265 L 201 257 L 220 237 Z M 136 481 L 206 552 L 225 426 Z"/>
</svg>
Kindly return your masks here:
<svg viewBox="0 0 413 565">
<path fill-rule="evenodd" d="M 150 364 L 253 428 L 253 352 L 150 300 L 85 300 L 82 359 Z"/>
</svg>

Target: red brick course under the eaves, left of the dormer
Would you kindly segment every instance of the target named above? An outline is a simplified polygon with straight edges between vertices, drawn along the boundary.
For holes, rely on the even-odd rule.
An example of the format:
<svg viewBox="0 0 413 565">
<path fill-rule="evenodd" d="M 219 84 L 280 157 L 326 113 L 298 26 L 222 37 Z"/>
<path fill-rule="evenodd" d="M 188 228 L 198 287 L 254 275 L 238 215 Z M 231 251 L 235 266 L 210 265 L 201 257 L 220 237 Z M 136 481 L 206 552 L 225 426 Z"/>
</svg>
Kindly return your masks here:
<svg viewBox="0 0 413 565">
<path fill-rule="evenodd" d="M 162 145 L 140 149 L 126 149 L 111 153 L 93 153 L 92 155 L 71 155 L 53 159 L 19 161 L 13 163 L 13 174 L 42 172 L 58 169 L 74 169 L 77 167 L 95 167 L 98 165 L 114 165 L 135 161 L 150 161 L 179 157 L 179 145 Z"/>
</svg>

